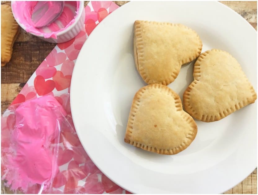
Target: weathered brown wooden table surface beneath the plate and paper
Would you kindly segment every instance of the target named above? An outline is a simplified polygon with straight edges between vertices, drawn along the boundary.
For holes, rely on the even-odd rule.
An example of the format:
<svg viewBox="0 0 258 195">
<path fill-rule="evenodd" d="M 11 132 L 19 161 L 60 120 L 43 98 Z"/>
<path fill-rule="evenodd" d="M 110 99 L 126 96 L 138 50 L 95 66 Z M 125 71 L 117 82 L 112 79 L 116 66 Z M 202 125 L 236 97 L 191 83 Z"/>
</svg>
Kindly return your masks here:
<svg viewBox="0 0 258 195">
<path fill-rule="evenodd" d="M 115 1 L 119 6 L 126 1 Z M 257 30 L 256 1 L 224 1 L 223 4 L 232 8 L 246 19 Z M 1 4 L 10 5 L 10 1 Z M 85 5 L 87 2 L 85 2 Z M 42 41 L 21 29 L 13 46 L 11 61 L 1 67 L 1 112 L 7 109 L 22 87 L 28 81 L 39 64 L 46 58 L 56 44 Z M 2 191 L 2 190 L 1 190 Z M 227 194 L 256 194 L 257 168 L 240 184 L 225 192 Z"/>
</svg>

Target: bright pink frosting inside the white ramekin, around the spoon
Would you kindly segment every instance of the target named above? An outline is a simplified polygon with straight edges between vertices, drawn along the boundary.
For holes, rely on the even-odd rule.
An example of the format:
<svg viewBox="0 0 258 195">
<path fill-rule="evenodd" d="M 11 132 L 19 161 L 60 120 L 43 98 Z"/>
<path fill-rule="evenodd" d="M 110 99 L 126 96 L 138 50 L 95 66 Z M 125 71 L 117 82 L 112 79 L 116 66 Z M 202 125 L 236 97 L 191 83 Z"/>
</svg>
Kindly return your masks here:
<svg viewBox="0 0 258 195">
<path fill-rule="evenodd" d="M 35 35 L 43 35 L 44 38 L 57 38 L 57 33 L 67 29 L 71 24 L 74 23 L 78 17 L 79 1 L 65 1 L 64 10 L 61 15 L 50 25 L 42 28 L 35 28 L 34 23 L 31 20 L 33 8 L 37 1 L 15 1 L 12 2 L 13 14 L 18 20 L 17 22 L 23 25 L 28 33 Z M 53 4 L 50 4 L 53 6 Z M 46 13 L 43 17 L 49 17 L 51 12 Z"/>
</svg>

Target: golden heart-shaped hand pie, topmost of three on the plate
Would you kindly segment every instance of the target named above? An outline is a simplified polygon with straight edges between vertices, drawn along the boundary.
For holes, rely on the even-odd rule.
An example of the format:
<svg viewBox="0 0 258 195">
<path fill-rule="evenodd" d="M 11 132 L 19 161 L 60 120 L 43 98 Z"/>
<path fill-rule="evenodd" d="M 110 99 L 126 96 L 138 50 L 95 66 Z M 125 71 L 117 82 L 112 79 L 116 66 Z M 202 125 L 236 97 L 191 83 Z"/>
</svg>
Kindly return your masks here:
<svg viewBox="0 0 258 195">
<path fill-rule="evenodd" d="M 181 65 L 196 59 L 201 51 L 198 34 L 182 24 L 140 20 L 134 23 L 135 64 L 148 84 L 173 82 Z"/>
</svg>

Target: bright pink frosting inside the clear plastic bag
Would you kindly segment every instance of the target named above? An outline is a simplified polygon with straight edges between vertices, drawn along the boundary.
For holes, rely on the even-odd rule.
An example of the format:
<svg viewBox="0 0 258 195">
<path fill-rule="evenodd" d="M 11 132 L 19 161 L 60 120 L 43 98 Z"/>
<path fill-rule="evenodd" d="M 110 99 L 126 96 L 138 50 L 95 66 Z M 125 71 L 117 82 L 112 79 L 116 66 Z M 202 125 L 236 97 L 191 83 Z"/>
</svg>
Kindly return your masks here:
<svg viewBox="0 0 258 195">
<path fill-rule="evenodd" d="M 47 188 L 58 172 L 57 151 L 51 142 L 60 135 L 60 121 L 66 112 L 51 95 L 20 104 L 15 110 L 16 124 L 11 132 L 10 170 L 6 175 L 11 189 L 43 184 Z M 53 143 L 54 144 L 54 143 Z"/>
</svg>

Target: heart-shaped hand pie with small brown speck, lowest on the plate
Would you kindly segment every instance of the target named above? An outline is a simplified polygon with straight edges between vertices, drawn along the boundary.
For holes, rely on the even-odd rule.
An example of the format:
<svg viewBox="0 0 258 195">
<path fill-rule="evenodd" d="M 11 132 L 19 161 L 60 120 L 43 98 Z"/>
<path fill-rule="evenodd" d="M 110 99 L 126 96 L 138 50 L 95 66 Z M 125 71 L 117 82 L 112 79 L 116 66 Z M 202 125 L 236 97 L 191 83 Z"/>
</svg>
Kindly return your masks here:
<svg viewBox="0 0 258 195">
<path fill-rule="evenodd" d="M 176 154 L 197 134 L 194 119 L 182 109 L 180 97 L 169 87 L 152 84 L 134 96 L 124 141 L 160 154 Z"/>
</svg>

